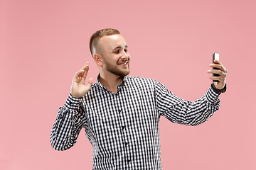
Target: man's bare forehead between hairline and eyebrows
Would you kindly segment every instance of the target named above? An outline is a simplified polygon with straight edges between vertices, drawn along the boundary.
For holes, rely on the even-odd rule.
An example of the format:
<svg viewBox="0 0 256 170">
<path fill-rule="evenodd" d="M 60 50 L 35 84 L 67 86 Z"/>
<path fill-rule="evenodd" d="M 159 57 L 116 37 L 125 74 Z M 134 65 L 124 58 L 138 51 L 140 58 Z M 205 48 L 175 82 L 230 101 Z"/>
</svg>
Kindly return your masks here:
<svg viewBox="0 0 256 170">
<path fill-rule="evenodd" d="M 112 50 L 115 47 L 126 47 L 127 43 L 122 37 L 122 35 L 114 34 L 114 35 L 105 35 L 100 38 L 100 45 L 106 50 Z"/>
</svg>

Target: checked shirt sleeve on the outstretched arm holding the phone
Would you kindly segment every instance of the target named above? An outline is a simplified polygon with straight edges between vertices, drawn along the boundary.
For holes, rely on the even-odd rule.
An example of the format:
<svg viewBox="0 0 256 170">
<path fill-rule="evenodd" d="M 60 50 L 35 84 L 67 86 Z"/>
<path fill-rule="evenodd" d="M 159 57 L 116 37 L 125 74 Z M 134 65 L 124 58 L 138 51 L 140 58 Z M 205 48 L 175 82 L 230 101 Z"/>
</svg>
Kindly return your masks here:
<svg viewBox="0 0 256 170">
<path fill-rule="evenodd" d="M 156 106 L 159 114 L 173 123 L 196 126 L 206 122 L 220 108 L 220 94 L 210 86 L 196 101 L 185 101 L 155 82 Z"/>
</svg>

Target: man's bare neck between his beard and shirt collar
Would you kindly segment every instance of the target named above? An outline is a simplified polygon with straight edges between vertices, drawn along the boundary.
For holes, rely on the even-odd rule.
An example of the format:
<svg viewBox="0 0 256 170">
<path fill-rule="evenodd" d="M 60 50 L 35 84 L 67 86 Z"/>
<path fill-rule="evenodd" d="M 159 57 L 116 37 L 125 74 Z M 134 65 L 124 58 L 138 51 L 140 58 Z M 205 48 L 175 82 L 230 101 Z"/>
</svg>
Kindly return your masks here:
<svg viewBox="0 0 256 170">
<path fill-rule="evenodd" d="M 117 86 L 121 83 L 124 77 L 119 77 L 110 72 L 100 72 L 100 82 L 107 88 L 108 91 L 117 93 Z"/>
</svg>

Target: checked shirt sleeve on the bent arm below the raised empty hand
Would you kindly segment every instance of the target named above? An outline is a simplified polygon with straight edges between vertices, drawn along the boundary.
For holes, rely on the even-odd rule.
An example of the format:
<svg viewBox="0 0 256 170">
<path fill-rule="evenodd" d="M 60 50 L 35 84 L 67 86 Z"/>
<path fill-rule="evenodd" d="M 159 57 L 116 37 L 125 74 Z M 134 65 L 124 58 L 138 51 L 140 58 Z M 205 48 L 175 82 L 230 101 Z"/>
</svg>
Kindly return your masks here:
<svg viewBox="0 0 256 170">
<path fill-rule="evenodd" d="M 53 149 L 66 150 L 73 147 L 85 121 L 85 110 L 82 109 L 81 99 L 69 94 L 65 105 L 59 108 L 50 132 L 50 143 Z"/>
</svg>

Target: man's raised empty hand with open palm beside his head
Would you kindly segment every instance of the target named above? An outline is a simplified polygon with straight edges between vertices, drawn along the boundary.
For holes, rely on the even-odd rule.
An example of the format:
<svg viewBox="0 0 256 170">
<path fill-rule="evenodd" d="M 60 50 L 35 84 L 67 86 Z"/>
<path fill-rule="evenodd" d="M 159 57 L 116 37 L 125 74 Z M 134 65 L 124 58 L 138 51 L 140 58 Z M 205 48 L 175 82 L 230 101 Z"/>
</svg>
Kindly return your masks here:
<svg viewBox="0 0 256 170">
<path fill-rule="evenodd" d="M 87 85 L 85 85 L 85 79 L 89 70 L 89 62 L 86 62 L 84 67 L 75 73 L 72 80 L 72 85 L 70 89 L 70 94 L 75 98 L 81 98 L 85 96 L 92 86 L 92 78 L 88 80 Z"/>
</svg>

